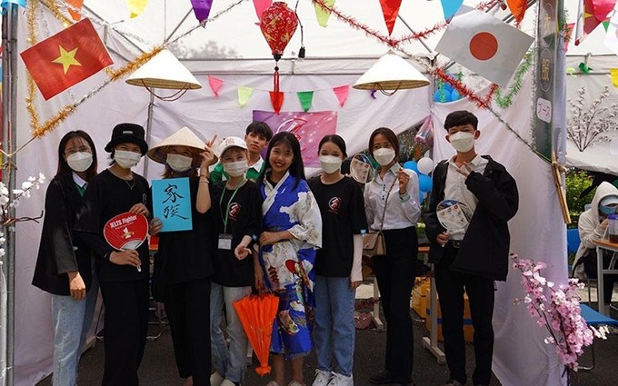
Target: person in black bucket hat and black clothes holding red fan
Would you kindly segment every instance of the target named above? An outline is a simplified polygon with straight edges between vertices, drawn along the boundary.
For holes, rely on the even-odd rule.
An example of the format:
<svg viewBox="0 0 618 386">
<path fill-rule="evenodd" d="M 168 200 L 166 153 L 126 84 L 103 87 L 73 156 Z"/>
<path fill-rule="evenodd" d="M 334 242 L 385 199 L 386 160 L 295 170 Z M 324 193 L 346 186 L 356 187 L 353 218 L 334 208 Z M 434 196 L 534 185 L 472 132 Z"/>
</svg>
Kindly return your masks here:
<svg viewBox="0 0 618 386">
<path fill-rule="evenodd" d="M 117 251 L 105 242 L 103 229 L 121 213 L 150 215 L 148 182 L 131 170 L 147 151 L 142 126 L 117 124 L 105 145 L 112 164 L 88 183 L 75 223 L 77 235 L 95 252 L 105 304 L 104 386 L 139 383 L 148 326 L 148 243 Z"/>
</svg>

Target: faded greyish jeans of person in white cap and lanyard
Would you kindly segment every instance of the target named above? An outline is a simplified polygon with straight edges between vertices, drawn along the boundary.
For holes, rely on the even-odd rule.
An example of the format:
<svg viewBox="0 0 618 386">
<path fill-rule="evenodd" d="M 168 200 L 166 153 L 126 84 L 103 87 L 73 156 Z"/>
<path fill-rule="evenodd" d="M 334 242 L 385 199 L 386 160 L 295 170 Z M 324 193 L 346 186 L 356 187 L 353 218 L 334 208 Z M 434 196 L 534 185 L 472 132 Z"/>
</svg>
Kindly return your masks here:
<svg viewBox="0 0 618 386">
<path fill-rule="evenodd" d="M 224 379 L 240 382 L 246 371 L 247 336 L 232 303 L 251 294 L 251 287 L 224 287 L 215 282 L 210 289 L 210 343 L 213 367 Z M 229 349 L 221 331 L 221 314 L 225 305 L 225 332 L 230 339 Z"/>
</svg>

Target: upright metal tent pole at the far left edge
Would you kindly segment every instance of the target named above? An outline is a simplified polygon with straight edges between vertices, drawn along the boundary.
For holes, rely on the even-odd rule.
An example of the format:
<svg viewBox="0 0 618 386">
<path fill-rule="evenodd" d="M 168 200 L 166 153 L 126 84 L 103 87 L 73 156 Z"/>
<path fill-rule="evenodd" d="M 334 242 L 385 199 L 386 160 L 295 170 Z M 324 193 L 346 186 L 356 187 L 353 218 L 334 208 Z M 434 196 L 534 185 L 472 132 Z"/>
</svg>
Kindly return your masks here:
<svg viewBox="0 0 618 386">
<path fill-rule="evenodd" d="M 8 12 L 2 16 L 2 68 L 3 68 L 3 90 L 2 90 L 2 149 L 5 153 L 12 153 L 16 144 L 16 123 L 17 87 L 15 80 L 17 77 L 17 5 L 9 3 Z M 15 155 L 11 158 L 3 157 L 2 181 L 9 192 L 15 189 Z M 13 193 L 9 193 L 13 198 Z M 15 218 L 15 208 L 8 208 L 8 213 L 4 213 L 4 219 Z M 3 257 L 2 273 L 6 283 L 6 310 L 3 312 L 5 320 L 5 368 L 3 371 L 5 385 L 13 386 L 15 383 L 15 223 L 3 226 L 5 233 L 5 256 Z M 3 294 L 4 295 L 4 294 Z M 0 376 L 0 381 L 2 381 Z"/>
</svg>

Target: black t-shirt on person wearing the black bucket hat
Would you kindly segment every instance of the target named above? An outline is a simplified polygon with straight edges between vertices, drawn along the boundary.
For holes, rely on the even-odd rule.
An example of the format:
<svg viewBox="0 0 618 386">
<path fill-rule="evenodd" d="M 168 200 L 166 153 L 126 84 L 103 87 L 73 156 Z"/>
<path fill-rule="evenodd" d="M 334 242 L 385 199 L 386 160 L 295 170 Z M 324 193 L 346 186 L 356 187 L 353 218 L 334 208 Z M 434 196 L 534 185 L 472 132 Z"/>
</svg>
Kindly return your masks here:
<svg viewBox="0 0 618 386">
<path fill-rule="evenodd" d="M 136 203 L 144 203 L 152 211 L 148 182 L 133 173 L 133 182 L 125 181 L 112 174 L 109 169 L 97 174 L 84 193 L 84 206 L 77 214 L 75 232 L 95 252 L 96 272 L 101 282 L 125 282 L 148 279 L 148 243 L 143 242 L 137 252 L 142 261 L 142 272 L 132 265 L 117 265 L 109 261 L 114 252 L 103 235 L 105 223 L 112 217 L 129 212 Z"/>
</svg>

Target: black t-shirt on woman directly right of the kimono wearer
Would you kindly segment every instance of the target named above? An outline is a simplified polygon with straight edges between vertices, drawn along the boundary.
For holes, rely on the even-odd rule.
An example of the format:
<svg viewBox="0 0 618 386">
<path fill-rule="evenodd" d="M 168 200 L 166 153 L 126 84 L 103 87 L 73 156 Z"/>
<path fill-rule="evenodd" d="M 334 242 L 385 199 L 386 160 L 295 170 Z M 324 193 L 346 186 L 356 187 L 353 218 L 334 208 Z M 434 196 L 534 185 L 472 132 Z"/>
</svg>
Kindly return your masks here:
<svg viewBox="0 0 618 386">
<path fill-rule="evenodd" d="M 353 235 L 367 229 L 361 188 L 350 177 L 324 184 L 318 176 L 308 183 L 322 213 L 322 249 L 317 251 L 315 272 L 321 276 L 350 276 Z"/>
</svg>

